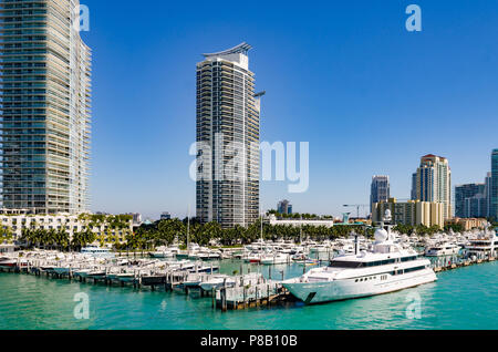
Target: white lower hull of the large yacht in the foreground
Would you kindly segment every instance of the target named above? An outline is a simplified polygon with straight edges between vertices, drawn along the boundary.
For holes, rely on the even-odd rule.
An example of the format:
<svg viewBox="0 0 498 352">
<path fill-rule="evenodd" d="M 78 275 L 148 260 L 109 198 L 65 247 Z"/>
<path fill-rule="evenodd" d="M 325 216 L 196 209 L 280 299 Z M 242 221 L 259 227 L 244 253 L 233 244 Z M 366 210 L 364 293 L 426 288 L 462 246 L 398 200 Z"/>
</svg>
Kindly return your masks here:
<svg viewBox="0 0 498 352">
<path fill-rule="evenodd" d="M 282 286 L 305 304 L 315 304 L 400 291 L 434 282 L 437 277 L 432 269 L 424 269 L 414 273 L 388 276 L 386 280 L 381 280 L 381 276 L 376 275 L 376 279 L 364 282 L 355 282 L 355 279 L 322 282 L 298 280 L 284 281 Z"/>
</svg>

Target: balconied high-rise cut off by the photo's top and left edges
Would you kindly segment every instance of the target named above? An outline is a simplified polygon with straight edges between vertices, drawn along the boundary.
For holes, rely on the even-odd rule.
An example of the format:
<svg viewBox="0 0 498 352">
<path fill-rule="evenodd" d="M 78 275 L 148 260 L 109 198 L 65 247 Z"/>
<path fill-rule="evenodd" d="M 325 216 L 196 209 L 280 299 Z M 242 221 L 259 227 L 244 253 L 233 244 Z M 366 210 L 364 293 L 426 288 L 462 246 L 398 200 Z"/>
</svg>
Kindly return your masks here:
<svg viewBox="0 0 498 352">
<path fill-rule="evenodd" d="M 0 1 L 3 208 L 89 210 L 91 50 L 79 4 Z"/>
</svg>

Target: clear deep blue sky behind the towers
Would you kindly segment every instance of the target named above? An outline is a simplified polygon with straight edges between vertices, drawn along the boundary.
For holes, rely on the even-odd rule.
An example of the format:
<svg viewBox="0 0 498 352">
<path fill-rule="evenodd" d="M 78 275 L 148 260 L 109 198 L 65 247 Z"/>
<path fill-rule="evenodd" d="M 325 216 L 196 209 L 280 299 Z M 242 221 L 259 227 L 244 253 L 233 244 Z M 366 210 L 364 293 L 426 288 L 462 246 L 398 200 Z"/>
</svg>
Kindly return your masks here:
<svg viewBox="0 0 498 352">
<path fill-rule="evenodd" d="M 263 209 L 340 216 L 374 174 L 407 198 L 427 153 L 483 182 L 498 147 L 498 2 L 82 0 L 93 49 L 92 210 L 195 209 L 196 63 L 242 41 L 266 90 L 261 139 L 310 143 L 310 188 L 264 183 Z M 417 3 L 423 31 L 405 29 Z M 193 210 L 194 213 L 194 210 Z"/>
</svg>

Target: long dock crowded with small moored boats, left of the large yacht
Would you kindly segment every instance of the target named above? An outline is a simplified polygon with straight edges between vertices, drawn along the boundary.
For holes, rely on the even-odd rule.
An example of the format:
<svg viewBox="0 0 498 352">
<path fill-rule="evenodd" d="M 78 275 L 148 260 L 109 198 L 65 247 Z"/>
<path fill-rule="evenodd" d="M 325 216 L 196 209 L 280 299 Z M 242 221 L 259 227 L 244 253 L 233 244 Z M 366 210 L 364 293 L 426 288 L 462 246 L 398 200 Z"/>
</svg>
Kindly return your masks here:
<svg viewBox="0 0 498 352">
<path fill-rule="evenodd" d="M 221 283 L 217 288 L 205 290 L 201 284 L 220 277 L 219 267 L 214 262 L 183 262 L 178 265 L 160 260 L 123 260 L 114 258 L 95 261 L 74 260 L 64 266 L 60 260 L 43 258 L 37 252 L 34 257 L 18 257 L 13 262 L 0 262 L 0 272 L 34 275 L 49 279 L 77 281 L 89 284 L 133 286 L 135 289 L 163 289 L 176 293 L 211 297 L 215 309 L 240 309 L 242 307 L 270 306 L 282 301 L 289 293 L 279 281 L 267 280 L 257 272 L 226 276 L 231 284 Z M 80 258 L 80 256 L 76 256 Z M 81 258 L 80 258 L 81 260 Z M 124 270 L 123 265 L 128 265 Z M 226 280 L 225 280 L 226 281 Z"/>
</svg>

